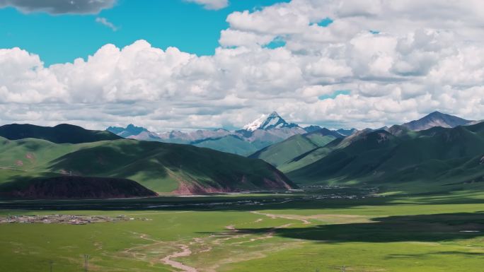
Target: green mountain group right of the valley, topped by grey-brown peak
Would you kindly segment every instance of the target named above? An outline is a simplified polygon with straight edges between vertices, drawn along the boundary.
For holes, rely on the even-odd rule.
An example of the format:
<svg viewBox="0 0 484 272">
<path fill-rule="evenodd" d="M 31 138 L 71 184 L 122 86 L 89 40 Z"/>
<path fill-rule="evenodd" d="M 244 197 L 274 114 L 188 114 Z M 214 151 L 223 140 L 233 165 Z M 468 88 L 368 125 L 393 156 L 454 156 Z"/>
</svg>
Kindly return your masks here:
<svg viewBox="0 0 484 272">
<path fill-rule="evenodd" d="M 335 137 L 325 131 L 326 140 Z M 317 143 L 293 136 L 250 155 L 297 184 L 359 184 L 384 191 L 484 188 L 484 122 L 432 112 L 422 119 Z"/>
</svg>

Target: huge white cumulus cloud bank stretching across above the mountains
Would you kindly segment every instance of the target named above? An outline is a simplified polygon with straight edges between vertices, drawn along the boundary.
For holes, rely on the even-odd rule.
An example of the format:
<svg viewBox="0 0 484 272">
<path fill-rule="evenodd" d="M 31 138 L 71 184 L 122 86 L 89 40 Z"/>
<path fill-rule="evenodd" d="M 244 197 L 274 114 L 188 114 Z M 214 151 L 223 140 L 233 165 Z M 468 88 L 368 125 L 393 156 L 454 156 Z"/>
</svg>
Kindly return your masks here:
<svg viewBox="0 0 484 272">
<path fill-rule="evenodd" d="M 213 56 L 139 40 L 45 67 L 0 49 L 0 120 L 164 131 L 240 127 L 272 110 L 333 127 L 433 110 L 483 119 L 483 18 L 472 0 L 292 0 L 231 13 Z"/>
</svg>

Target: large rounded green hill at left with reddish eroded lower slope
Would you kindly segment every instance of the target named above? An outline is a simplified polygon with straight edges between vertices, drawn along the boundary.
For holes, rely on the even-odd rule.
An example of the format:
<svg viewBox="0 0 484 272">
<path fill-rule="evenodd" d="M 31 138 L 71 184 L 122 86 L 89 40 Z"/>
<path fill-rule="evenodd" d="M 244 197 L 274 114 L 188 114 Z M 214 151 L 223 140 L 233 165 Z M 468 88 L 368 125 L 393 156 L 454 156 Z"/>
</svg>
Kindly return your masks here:
<svg viewBox="0 0 484 272">
<path fill-rule="evenodd" d="M 0 153 L 0 191 L 62 175 L 131 179 L 153 191 L 179 194 L 294 187 L 263 160 L 171 143 L 120 139 L 57 144 L 0 138 Z"/>
</svg>

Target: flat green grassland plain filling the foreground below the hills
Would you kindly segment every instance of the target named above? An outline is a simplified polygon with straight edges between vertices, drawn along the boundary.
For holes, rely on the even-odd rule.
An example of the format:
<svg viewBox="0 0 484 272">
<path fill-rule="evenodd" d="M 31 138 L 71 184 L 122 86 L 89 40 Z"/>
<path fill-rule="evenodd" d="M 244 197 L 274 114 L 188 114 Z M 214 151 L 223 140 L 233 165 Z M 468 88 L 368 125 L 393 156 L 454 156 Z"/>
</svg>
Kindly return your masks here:
<svg viewBox="0 0 484 272">
<path fill-rule="evenodd" d="M 12 205 L 25 210 L 6 209 Z M 298 193 L 2 200 L 0 208 L 4 216 L 148 219 L 1 224 L 1 271 L 49 271 L 50 261 L 53 271 L 82 271 L 83 254 L 91 255 L 90 271 L 108 272 L 341 271 L 342 266 L 346 271 L 478 272 L 484 260 L 484 194 L 476 191 L 357 199 Z"/>
</svg>

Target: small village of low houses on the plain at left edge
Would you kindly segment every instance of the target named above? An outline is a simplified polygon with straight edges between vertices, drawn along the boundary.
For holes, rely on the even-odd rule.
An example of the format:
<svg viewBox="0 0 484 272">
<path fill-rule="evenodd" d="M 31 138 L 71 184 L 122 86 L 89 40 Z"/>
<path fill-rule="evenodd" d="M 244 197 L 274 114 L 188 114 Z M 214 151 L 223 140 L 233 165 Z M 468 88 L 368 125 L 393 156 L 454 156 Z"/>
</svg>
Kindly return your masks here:
<svg viewBox="0 0 484 272">
<path fill-rule="evenodd" d="M 0 216 L 0 224 L 4 223 L 43 223 L 43 224 L 69 224 L 86 225 L 91 223 L 116 223 L 129 220 L 151 220 L 148 218 L 129 218 L 125 215 L 115 217 L 104 215 L 7 215 Z"/>
</svg>

